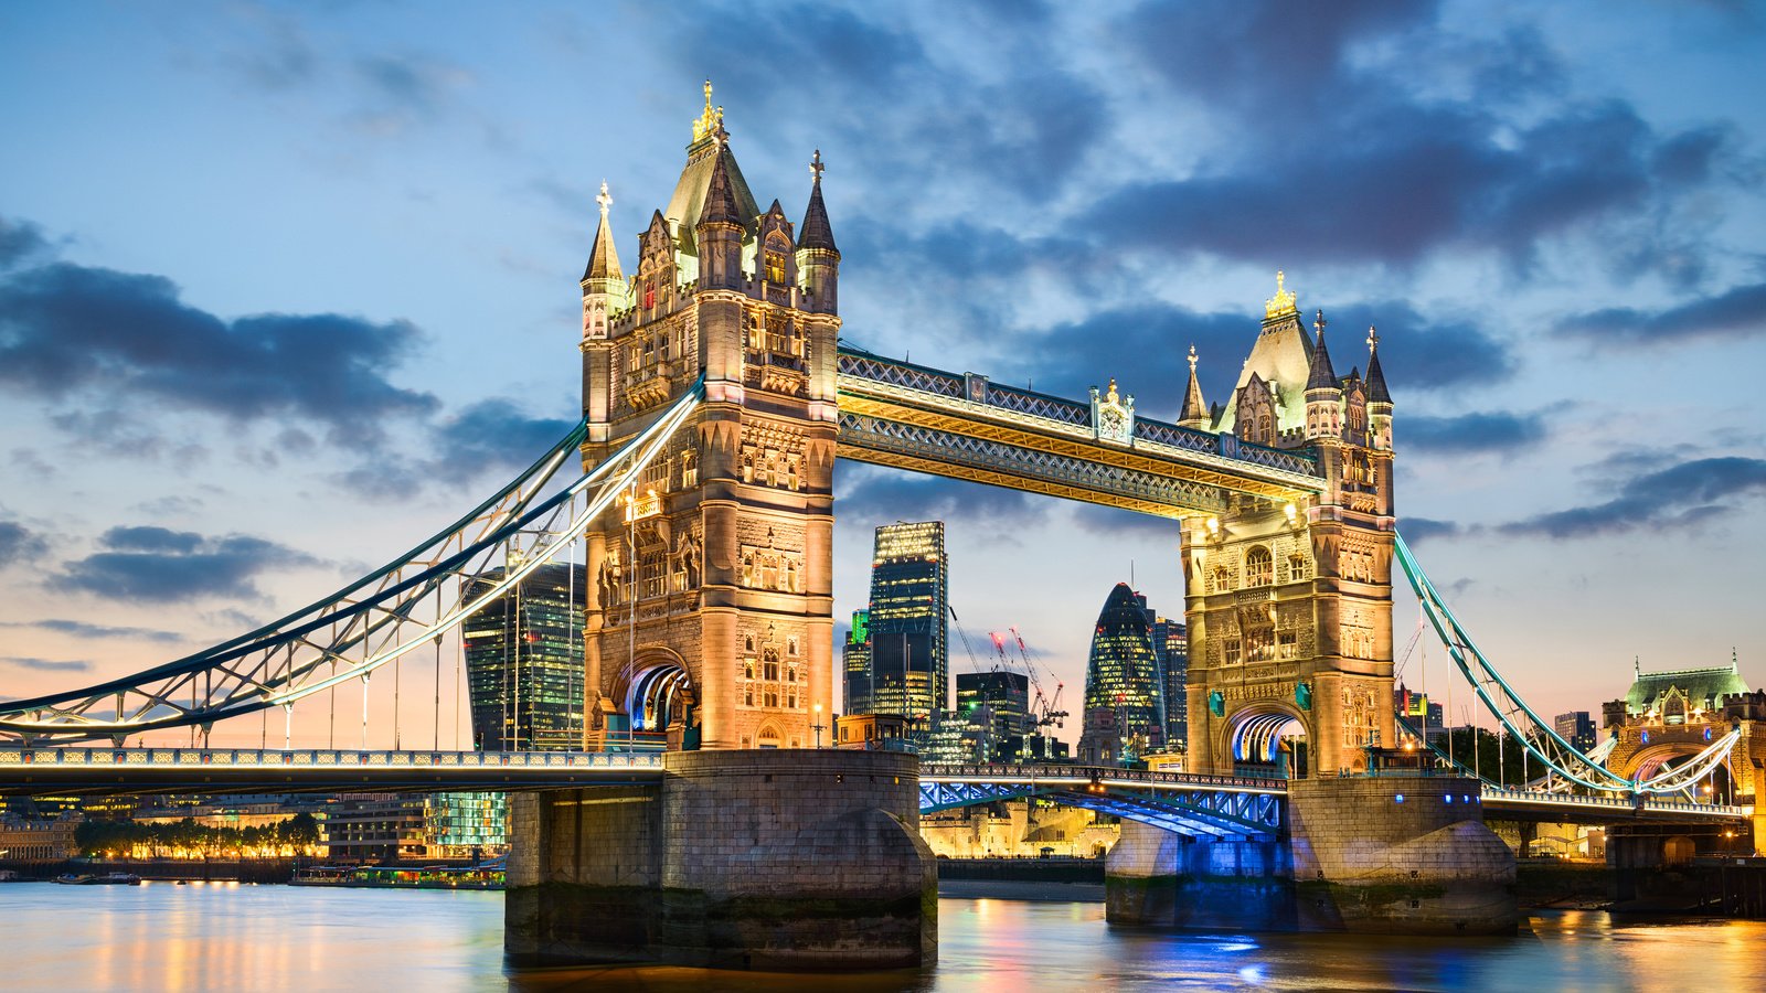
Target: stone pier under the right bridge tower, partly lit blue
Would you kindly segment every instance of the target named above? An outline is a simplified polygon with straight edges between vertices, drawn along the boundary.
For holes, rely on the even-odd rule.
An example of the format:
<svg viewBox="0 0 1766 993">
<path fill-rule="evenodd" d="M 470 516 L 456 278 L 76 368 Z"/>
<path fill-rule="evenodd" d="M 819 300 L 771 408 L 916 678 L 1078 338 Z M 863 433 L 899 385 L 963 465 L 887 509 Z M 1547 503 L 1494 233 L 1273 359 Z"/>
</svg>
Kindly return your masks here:
<svg viewBox="0 0 1766 993">
<path fill-rule="evenodd" d="M 1287 785 L 1289 838 L 1210 841 L 1123 823 L 1106 919 L 1160 928 L 1510 935 L 1515 857 L 1478 783 L 1445 776 Z"/>
</svg>

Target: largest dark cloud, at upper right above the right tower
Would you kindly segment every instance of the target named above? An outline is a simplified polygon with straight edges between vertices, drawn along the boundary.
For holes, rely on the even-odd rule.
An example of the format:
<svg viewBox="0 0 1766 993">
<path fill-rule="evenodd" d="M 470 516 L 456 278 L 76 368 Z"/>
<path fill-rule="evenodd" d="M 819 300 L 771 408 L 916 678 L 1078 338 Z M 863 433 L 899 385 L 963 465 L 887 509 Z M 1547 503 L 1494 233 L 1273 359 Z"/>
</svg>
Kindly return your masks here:
<svg viewBox="0 0 1766 993">
<path fill-rule="evenodd" d="M 1190 177 L 1102 196 L 1086 224 L 1174 254 L 1411 265 L 1457 246 L 1524 269 L 1540 239 L 1708 182 L 1732 147 L 1722 125 L 1664 134 L 1623 101 L 1561 99 L 1563 71 L 1533 32 L 1469 44 L 1434 21 L 1423 4 L 1139 9 L 1123 23 L 1130 49 L 1180 99 L 1206 94 L 1229 140 Z M 1469 49 L 1480 57 L 1462 92 L 1418 92 L 1460 72 Z M 1678 279 L 1699 270 L 1671 263 L 1683 253 L 1611 249 L 1616 267 L 1657 263 Z"/>
</svg>

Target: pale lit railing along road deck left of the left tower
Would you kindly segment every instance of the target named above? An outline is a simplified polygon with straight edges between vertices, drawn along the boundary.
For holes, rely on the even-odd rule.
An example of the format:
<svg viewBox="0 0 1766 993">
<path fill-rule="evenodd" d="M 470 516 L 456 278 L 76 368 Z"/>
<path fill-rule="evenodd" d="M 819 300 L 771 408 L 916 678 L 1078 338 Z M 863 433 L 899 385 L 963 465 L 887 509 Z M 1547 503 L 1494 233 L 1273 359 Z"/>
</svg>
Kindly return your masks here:
<svg viewBox="0 0 1766 993">
<path fill-rule="evenodd" d="M 452 769 L 662 769 L 660 754 L 590 751 L 362 751 L 268 747 L 0 747 L 0 767 L 90 769 L 286 769 L 286 767 L 452 767 Z"/>
</svg>

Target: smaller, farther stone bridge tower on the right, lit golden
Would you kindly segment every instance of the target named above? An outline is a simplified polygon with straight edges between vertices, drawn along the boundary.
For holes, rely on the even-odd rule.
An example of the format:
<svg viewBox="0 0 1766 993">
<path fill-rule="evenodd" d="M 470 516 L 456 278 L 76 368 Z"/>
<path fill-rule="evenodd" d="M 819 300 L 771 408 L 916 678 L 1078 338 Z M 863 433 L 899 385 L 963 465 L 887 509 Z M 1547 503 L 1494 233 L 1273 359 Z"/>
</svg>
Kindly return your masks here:
<svg viewBox="0 0 1766 993">
<path fill-rule="evenodd" d="M 1185 519 L 1197 772 L 1335 774 L 1363 769 L 1365 746 L 1395 744 L 1392 396 L 1374 330 L 1367 375 L 1339 376 L 1324 323 L 1319 313 L 1317 337 L 1307 334 L 1277 274 L 1231 403 L 1211 412 L 1192 350 L 1185 426 L 1243 454 L 1307 454 L 1324 477 L 1303 504 L 1233 496 L 1217 518 Z"/>
</svg>

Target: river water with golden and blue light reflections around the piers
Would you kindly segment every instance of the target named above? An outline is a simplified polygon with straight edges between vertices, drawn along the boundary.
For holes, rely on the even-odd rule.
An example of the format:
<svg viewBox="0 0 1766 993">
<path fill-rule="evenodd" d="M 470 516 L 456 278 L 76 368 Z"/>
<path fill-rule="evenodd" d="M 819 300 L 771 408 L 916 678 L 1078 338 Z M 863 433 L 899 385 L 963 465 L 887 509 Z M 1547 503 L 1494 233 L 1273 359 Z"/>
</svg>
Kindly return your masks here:
<svg viewBox="0 0 1766 993">
<path fill-rule="evenodd" d="M 1657 989 L 1766 988 L 1766 922 L 1533 917 L 1517 938 L 1160 935 L 1098 903 L 941 899 L 938 966 L 864 975 L 689 968 L 505 974 L 494 892 L 238 883 L 0 885 L 0 988 L 48 989 Z"/>
</svg>

